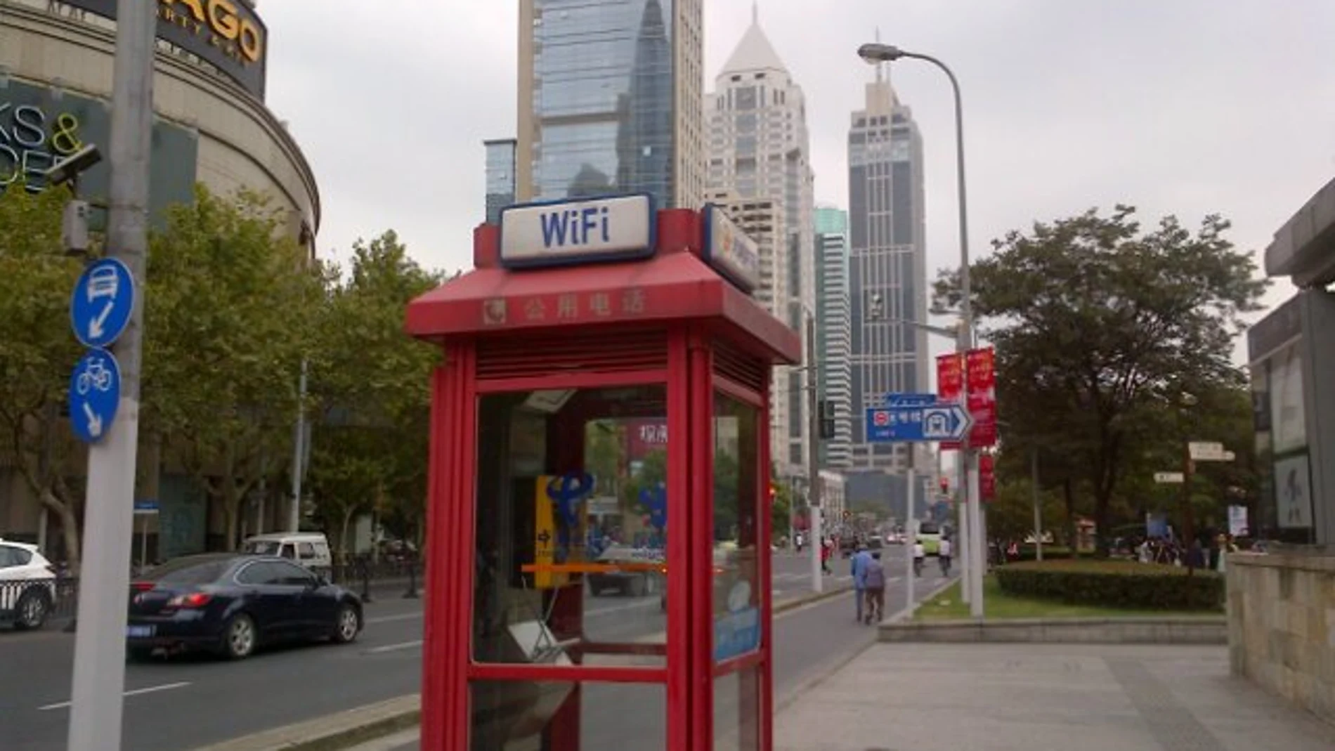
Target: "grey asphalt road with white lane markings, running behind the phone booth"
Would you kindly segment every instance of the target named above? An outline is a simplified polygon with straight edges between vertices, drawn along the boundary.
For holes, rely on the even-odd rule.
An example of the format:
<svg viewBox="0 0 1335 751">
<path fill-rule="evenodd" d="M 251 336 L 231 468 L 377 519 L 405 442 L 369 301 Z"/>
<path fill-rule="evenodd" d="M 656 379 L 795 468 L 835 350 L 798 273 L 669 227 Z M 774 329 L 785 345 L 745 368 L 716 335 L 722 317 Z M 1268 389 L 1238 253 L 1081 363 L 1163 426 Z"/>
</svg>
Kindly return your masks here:
<svg viewBox="0 0 1335 751">
<path fill-rule="evenodd" d="M 894 551 L 897 548 L 889 548 Z M 785 560 L 786 559 L 786 560 Z M 778 596 L 809 586 L 785 574 L 805 571 L 796 556 L 776 555 Z M 837 572 L 846 574 L 840 560 Z M 886 610 L 904 606 L 902 564 L 890 562 Z M 828 582 L 837 578 L 828 578 Z M 920 596 L 934 572 L 921 580 Z M 418 691 L 421 679 L 421 600 L 391 594 L 367 606 L 362 639 L 346 647 L 283 648 L 227 663 L 210 658 L 176 658 L 127 666 L 123 748 L 183 751 L 351 707 Z M 657 598 L 591 598 L 586 628 L 601 638 L 651 634 L 662 628 Z M 853 622 L 850 595 L 782 614 L 776 619 L 776 699 L 838 664 L 873 639 L 873 630 Z M 73 638 L 60 631 L 0 631 L 0 748 L 61 751 L 68 724 Z M 20 676 L 15 680 L 13 676 Z M 653 702 L 633 702 L 655 695 Z M 585 692 L 589 727 L 662 727 L 662 691 L 654 687 L 595 687 Z M 641 706 L 641 710 L 635 707 Z M 641 715 L 642 716 L 637 716 Z M 631 723 L 631 724 L 627 724 Z M 659 746 L 661 747 L 661 746 Z M 626 751 L 630 751 L 629 748 Z"/>
</svg>

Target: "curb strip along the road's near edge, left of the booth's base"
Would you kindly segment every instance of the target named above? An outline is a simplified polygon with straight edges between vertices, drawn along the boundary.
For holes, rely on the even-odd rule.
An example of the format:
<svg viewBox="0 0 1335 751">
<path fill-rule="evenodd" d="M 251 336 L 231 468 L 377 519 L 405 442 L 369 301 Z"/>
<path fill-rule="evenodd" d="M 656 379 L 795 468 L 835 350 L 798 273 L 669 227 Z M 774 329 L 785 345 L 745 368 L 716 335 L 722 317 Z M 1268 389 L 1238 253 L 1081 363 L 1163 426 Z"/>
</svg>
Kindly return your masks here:
<svg viewBox="0 0 1335 751">
<path fill-rule="evenodd" d="M 409 694 L 195 751 L 334 751 L 407 730 L 421 719 L 422 695 Z"/>
</svg>

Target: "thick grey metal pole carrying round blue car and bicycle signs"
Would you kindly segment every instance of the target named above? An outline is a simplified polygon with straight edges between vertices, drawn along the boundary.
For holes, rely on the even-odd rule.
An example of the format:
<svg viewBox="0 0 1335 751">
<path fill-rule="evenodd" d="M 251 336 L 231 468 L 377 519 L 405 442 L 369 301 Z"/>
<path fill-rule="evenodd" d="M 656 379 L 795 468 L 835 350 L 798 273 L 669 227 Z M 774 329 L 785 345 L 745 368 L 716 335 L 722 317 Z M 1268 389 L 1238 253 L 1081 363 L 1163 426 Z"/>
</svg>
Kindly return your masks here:
<svg viewBox="0 0 1335 751">
<path fill-rule="evenodd" d="M 107 247 L 129 267 L 138 295 L 112 353 L 120 404 L 107 438 L 88 448 L 83 568 L 68 751 L 117 751 L 125 688 L 125 592 L 135 532 L 139 369 L 148 253 L 148 152 L 154 116 L 156 3 L 120 0 L 111 107 Z"/>
</svg>

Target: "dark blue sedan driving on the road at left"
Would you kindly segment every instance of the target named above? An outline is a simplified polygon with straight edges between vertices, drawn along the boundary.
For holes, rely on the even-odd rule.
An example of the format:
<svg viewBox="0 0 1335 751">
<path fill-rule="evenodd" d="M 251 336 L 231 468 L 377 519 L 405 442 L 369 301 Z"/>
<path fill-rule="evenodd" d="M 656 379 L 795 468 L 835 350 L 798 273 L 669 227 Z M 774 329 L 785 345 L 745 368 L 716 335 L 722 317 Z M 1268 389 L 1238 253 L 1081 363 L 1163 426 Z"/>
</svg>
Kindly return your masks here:
<svg viewBox="0 0 1335 751">
<path fill-rule="evenodd" d="M 362 600 L 282 558 L 191 555 L 129 587 L 127 655 L 206 650 L 239 660 L 279 642 L 346 644 L 362 632 Z"/>
</svg>

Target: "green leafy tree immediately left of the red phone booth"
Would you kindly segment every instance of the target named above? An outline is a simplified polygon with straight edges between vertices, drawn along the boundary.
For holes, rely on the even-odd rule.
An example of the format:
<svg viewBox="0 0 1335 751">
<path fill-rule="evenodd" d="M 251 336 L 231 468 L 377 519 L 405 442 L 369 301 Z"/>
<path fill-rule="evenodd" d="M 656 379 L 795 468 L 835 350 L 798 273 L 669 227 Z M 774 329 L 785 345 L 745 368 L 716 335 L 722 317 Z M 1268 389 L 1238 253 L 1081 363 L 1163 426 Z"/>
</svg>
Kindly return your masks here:
<svg viewBox="0 0 1335 751">
<path fill-rule="evenodd" d="M 340 550 L 359 514 L 374 511 L 405 538 L 422 528 L 439 351 L 403 335 L 403 313 L 441 280 L 392 231 L 354 243 L 347 277 L 327 279 L 310 365 L 319 431 L 310 490 Z"/>
</svg>

